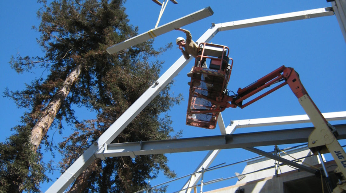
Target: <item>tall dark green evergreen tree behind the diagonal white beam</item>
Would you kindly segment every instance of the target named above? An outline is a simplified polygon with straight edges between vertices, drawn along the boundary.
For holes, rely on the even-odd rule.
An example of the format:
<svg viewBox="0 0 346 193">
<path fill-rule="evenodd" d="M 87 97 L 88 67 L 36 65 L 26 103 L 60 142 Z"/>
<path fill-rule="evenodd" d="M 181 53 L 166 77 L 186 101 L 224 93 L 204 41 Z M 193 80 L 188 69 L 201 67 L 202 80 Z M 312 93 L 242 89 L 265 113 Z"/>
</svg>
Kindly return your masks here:
<svg viewBox="0 0 346 193">
<path fill-rule="evenodd" d="M 137 34 L 137 28 L 128 24 L 122 0 L 54 0 L 49 4 L 38 1 L 43 7 L 38 11 L 41 23 L 36 29 L 41 33 L 38 43 L 45 55 L 18 55 L 12 57 L 10 64 L 19 73 L 41 67 L 49 74 L 45 79 L 33 80 L 23 91 L 4 92 L 29 112 L 22 116 L 22 124 L 13 128 L 16 133 L 0 143 L 3 192 L 39 192 L 39 183 L 49 180 L 41 160 L 41 144 L 47 142 L 48 129 L 62 129 L 63 120 L 77 125 L 76 132 L 60 144 L 64 170 L 153 84 L 162 63 L 149 60 L 171 47 L 169 44 L 157 51 L 152 41 L 147 41 L 109 55 L 107 47 Z M 162 113 L 180 99 L 166 87 L 115 142 L 174 137 L 170 135 L 170 119 L 162 117 Z M 79 122 L 73 106 L 96 111 L 97 120 Z M 46 145 L 51 148 L 48 142 Z M 173 176 L 166 162 L 164 155 L 96 160 L 75 181 L 71 191 L 138 190 L 147 185 L 145 179 L 156 177 L 159 170 Z"/>
</svg>

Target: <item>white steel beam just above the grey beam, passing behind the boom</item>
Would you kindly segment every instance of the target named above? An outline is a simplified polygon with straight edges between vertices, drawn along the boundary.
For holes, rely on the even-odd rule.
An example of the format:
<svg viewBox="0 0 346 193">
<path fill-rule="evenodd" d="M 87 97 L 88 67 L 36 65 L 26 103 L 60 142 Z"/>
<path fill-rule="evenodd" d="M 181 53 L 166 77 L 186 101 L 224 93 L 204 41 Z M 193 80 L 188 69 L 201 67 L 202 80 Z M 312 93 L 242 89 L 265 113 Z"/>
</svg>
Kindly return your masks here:
<svg viewBox="0 0 346 193">
<path fill-rule="evenodd" d="M 346 119 L 346 111 L 322 113 L 327 121 L 337 121 Z M 291 116 L 277 116 L 270 118 L 260 119 L 243 119 L 231 121 L 232 123 L 227 126 L 227 134 L 232 134 L 237 128 L 257 127 L 257 126 L 272 126 L 284 124 L 297 124 L 311 122 L 308 115 L 291 115 Z"/>
</svg>

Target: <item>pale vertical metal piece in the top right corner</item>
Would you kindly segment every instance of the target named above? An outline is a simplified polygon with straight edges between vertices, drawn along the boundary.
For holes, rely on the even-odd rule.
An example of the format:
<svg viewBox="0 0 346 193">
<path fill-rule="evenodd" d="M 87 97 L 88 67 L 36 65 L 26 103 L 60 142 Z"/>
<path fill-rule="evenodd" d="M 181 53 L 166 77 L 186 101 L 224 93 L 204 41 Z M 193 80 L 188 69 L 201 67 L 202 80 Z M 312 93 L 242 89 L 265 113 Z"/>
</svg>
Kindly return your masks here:
<svg viewBox="0 0 346 193">
<path fill-rule="evenodd" d="M 331 2 L 331 5 L 346 42 L 346 0 L 335 0 Z"/>
</svg>

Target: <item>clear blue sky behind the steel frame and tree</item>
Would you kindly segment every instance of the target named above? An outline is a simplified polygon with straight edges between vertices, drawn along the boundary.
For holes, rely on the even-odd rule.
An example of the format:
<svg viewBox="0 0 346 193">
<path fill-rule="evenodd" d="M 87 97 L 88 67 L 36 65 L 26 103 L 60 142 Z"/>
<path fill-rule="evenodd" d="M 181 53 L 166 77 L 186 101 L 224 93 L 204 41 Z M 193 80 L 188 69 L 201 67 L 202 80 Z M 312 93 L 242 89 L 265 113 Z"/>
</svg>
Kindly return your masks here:
<svg viewBox="0 0 346 193">
<path fill-rule="evenodd" d="M 326 0 L 252 0 L 246 2 L 177 0 L 177 2 L 178 4 L 169 2 L 159 26 L 208 6 L 214 11 L 213 16 L 183 27 L 191 31 L 194 40 L 197 40 L 211 26 L 212 22 L 222 23 L 331 6 Z M 39 4 L 35 2 L 30 3 L 29 1 L 13 0 L 0 2 L 0 21 L 1 26 L 3 26 L 0 32 L 2 37 L 0 51 L 1 92 L 6 87 L 12 91 L 21 90 L 25 88 L 25 83 L 29 83 L 33 78 L 40 77 L 44 74 L 42 69 L 35 70 L 35 73 L 17 74 L 8 64 L 11 55 L 16 55 L 17 53 L 20 53 L 22 56 L 42 55 L 41 48 L 36 43 L 36 38 L 39 38 L 39 33 L 31 29 L 31 26 L 37 26 L 39 24 L 39 20 L 36 17 L 36 11 L 39 7 Z M 139 33 L 146 32 L 155 27 L 161 9 L 160 6 L 151 0 L 128 0 L 125 7 L 130 23 L 139 27 Z M 163 34 L 155 38 L 154 46 L 158 48 L 168 42 L 175 43 L 175 38 L 178 36 L 184 36 L 184 34 L 179 31 Z M 346 110 L 346 44 L 335 16 L 222 31 L 211 41 L 213 43 L 227 45 L 230 48 L 230 57 L 234 59 L 234 65 L 228 86 L 229 90 L 236 92 L 239 87 L 244 88 L 246 85 L 263 77 L 281 65 L 285 65 L 287 67 L 293 67 L 299 73 L 304 87 L 321 112 Z M 173 48 L 160 58 L 165 61 L 162 73 L 180 56 L 181 52 L 174 44 Z M 183 138 L 219 135 L 220 131 L 218 128 L 207 130 L 185 125 L 189 94 L 189 86 L 187 84 L 189 79 L 186 77 L 186 73 L 190 70 L 191 66 L 192 62 L 174 79 L 175 86 L 172 89 L 176 94 L 183 93 L 185 101 L 179 106 L 174 106 L 170 112 L 173 127 L 176 131 L 183 130 Z M 20 116 L 25 109 L 18 109 L 13 101 L 2 97 L 0 98 L 0 105 L 2 109 L 0 112 L 1 131 L 3 133 L 0 136 L 0 141 L 4 141 L 12 133 L 10 128 L 19 124 Z M 83 110 L 76 110 L 76 112 L 78 112 L 80 120 L 90 119 L 94 116 L 92 113 Z M 227 126 L 230 120 L 299 114 L 305 114 L 305 112 L 289 87 L 286 86 L 245 109 L 226 109 L 222 112 L 222 117 Z M 308 124 L 308 126 L 311 125 Z M 64 128 L 65 130 L 62 135 L 54 134 L 52 140 L 55 143 L 58 143 L 64 136 L 68 136 L 71 133 L 70 126 L 64 125 Z M 289 128 L 289 126 L 238 129 L 236 132 L 244 133 L 283 128 Z M 50 131 L 49 135 L 52 137 L 53 133 L 54 131 Z M 341 143 L 343 145 L 345 144 L 344 141 Z M 292 146 L 292 144 L 282 145 L 281 147 L 289 146 Z M 259 147 L 259 149 L 272 151 L 274 147 Z M 167 154 L 167 156 L 170 160 L 169 166 L 176 171 L 179 177 L 192 173 L 206 154 L 207 152 L 188 152 Z M 222 150 L 211 165 L 224 162 L 230 164 L 254 156 L 256 154 L 242 149 Z M 51 159 L 49 152 L 45 153 L 45 159 Z M 55 161 L 60 161 L 59 156 L 55 158 Z M 234 172 L 241 173 L 244 166 L 245 164 L 238 164 L 227 167 L 222 171 L 207 173 L 204 181 L 233 176 Z M 54 172 L 51 178 L 54 180 L 59 176 L 59 172 Z M 167 179 L 160 175 L 151 184 L 156 185 L 165 181 Z M 186 179 L 172 183 L 167 192 L 179 190 L 185 181 Z M 42 191 L 44 192 L 52 183 L 43 184 Z M 235 184 L 235 180 L 229 180 L 204 186 L 203 190 L 208 191 L 233 184 Z"/>
</svg>

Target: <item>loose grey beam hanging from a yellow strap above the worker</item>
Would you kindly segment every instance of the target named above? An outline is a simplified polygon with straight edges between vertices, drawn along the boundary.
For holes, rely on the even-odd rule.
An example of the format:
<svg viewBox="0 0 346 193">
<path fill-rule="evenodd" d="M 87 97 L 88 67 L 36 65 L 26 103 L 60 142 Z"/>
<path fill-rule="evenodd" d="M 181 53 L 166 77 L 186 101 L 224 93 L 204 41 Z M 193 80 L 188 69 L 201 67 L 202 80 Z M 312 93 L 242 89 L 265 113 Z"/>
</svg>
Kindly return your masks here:
<svg viewBox="0 0 346 193">
<path fill-rule="evenodd" d="M 151 29 L 151 30 L 144 32 L 142 34 L 139 34 L 133 38 L 130 38 L 130 39 L 127 39 L 123 42 L 112 45 L 111 47 L 107 48 L 107 52 L 109 54 L 119 52 L 119 51 L 124 50 L 126 48 L 129 48 L 133 45 L 136 45 L 138 43 L 142 43 L 146 40 L 155 38 L 158 35 L 162 35 L 164 33 L 172 31 L 172 30 L 174 30 L 174 28 L 180 28 L 182 26 L 186 26 L 187 24 L 190 24 L 190 23 L 193 23 L 195 21 L 201 20 L 203 18 L 209 17 L 212 14 L 213 14 L 213 11 L 211 10 L 210 7 L 201 9 L 201 10 L 193 12 L 187 16 L 176 19 L 174 21 L 166 23 L 166 24 L 159 26 L 157 28 Z"/>
</svg>

